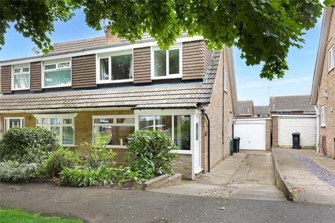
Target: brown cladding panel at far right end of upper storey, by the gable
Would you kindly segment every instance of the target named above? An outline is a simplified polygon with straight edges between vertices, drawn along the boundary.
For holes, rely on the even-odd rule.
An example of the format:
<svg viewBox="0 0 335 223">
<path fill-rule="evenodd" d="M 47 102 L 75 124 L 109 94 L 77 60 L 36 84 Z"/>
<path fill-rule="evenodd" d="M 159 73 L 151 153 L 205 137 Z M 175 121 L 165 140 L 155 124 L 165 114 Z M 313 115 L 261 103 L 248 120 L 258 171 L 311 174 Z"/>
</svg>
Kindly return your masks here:
<svg viewBox="0 0 335 223">
<path fill-rule="evenodd" d="M 183 43 L 183 79 L 202 79 L 209 66 L 211 52 L 203 40 Z"/>
</svg>

